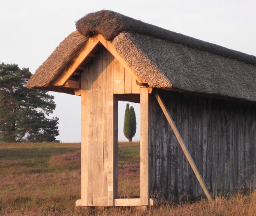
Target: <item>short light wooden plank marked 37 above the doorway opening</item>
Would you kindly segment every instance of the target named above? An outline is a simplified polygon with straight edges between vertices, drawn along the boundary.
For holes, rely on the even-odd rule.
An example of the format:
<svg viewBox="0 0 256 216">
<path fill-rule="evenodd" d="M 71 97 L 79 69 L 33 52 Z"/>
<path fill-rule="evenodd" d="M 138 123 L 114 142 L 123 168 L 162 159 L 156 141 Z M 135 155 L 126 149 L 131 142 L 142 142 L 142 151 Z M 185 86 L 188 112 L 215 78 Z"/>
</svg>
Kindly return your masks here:
<svg viewBox="0 0 256 216">
<path fill-rule="evenodd" d="M 116 58 L 114 58 L 113 79 L 114 94 L 124 94 L 124 66 Z"/>
</svg>

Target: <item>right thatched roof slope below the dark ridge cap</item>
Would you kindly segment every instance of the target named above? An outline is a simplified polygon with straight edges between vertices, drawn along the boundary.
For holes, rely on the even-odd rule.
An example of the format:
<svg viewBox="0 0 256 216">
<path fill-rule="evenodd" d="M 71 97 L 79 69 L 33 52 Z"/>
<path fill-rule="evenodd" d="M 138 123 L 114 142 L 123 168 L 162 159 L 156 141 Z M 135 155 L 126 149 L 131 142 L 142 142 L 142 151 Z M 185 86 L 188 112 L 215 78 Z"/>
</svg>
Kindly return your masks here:
<svg viewBox="0 0 256 216">
<path fill-rule="evenodd" d="M 120 33 L 115 49 L 156 88 L 256 101 L 256 67 L 137 33 Z"/>
</svg>

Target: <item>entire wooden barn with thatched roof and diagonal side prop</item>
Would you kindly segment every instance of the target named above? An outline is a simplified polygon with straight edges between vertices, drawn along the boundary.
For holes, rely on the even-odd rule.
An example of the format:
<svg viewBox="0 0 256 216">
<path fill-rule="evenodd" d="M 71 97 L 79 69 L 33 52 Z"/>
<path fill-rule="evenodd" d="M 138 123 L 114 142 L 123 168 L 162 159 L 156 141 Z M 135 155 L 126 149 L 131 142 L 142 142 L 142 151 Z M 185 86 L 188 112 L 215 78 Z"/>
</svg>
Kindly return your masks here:
<svg viewBox="0 0 256 216">
<path fill-rule="evenodd" d="M 148 206 L 256 187 L 256 57 L 102 10 L 28 88 L 81 96 L 81 199 Z M 117 196 L 118 100 L 140 103 L 140 195 Z"/>
</svg>

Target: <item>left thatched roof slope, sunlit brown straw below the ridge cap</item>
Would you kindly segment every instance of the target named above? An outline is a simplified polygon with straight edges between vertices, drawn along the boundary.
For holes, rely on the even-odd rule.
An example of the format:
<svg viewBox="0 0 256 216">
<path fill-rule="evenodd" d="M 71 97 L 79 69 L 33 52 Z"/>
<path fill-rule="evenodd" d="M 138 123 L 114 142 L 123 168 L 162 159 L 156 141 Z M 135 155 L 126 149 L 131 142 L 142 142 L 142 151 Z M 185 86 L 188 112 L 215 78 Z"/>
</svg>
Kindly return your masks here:
<svg viewBox="0 0 256 216">
<path fill-rule="evenodd" d="M 71 60 L 77 55 L 77 52 L 87 42 L 88 37 L 84 37 L 78 31 L 72 32 L 66 37 L 54 52 L 44 61 L 36 70 L 27 83 L 28 88 L 46 89 L 58 92 L 74 94 L 74 90 L 63 87 L 50 87 L 50 84 L 70 64 Z"/>
</svg>

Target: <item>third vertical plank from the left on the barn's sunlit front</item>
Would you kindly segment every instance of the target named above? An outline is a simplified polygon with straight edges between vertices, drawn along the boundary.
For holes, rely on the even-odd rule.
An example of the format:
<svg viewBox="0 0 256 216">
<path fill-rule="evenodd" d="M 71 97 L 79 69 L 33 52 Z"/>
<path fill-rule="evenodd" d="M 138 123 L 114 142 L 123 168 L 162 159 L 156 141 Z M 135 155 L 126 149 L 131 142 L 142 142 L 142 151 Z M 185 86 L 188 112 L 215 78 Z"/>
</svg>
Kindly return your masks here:
<svg viewBox="0 0 256 216">
<path fill-rule="evenodd" d="M 93 205 L 98 205 L 98 61 L 99 56 L 93 59 Z"/>
</svg>

